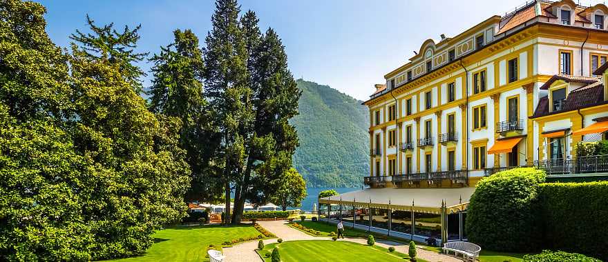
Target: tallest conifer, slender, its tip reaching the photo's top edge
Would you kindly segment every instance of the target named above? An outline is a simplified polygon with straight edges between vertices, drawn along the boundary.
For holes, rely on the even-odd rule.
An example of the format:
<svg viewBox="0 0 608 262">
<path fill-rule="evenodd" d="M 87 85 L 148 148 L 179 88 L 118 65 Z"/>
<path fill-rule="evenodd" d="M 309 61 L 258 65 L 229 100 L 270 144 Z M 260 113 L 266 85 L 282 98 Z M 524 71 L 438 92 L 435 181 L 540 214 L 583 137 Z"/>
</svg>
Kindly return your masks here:
<svg viewBox="0 0 608 262">
<path fill-rule="evenodd" d="M 207 34 L 205 48 L 205 94 L 213 111 L 211 122 L 220 134 L 220 144 L 213 163 L 223 168 L 225 189 L 225 221 L 230 221 L 231 182 L 242 168 L 245 139 L 241 136 L 253 120 L 251 89 L 247 85 L 247 50 L 238 25 L 240 6 L 236 0 L 216 1 L 211 17 L 212 30 Z"/>
</svg>

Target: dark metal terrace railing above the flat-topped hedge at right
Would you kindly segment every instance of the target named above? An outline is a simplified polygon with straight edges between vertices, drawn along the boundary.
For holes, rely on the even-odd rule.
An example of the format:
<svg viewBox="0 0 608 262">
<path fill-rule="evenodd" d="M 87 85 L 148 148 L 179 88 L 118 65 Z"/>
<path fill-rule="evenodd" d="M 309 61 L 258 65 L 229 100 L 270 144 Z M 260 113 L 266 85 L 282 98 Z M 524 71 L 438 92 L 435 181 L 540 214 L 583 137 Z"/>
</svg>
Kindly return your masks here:
<svg viewBox="0 0 608 262">
<path fill-rule="evenodd" d="M 608 155 L 577 157 L 576 159 L 548 159 L 534 161 L 536 168 L 547 174 L 589 174 L 608 172 Z"/>
</svg>

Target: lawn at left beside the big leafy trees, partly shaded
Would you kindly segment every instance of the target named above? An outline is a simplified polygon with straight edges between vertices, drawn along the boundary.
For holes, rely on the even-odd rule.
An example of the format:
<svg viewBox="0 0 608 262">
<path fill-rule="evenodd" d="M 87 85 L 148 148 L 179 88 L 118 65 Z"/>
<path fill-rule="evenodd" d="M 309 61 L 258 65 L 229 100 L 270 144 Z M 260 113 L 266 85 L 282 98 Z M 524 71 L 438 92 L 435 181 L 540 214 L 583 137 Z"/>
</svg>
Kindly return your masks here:
<svg viewBox="0 0 608 262">
<path fill-rule="evenodd" d="M 117 261 L 209 261 L 205 258 L 209 244 L 221 245 L 224 241 L 258 234 L 251 225 L 167 228 L 154 234 L 157 242 L 143 256 Z"/>
</svg>

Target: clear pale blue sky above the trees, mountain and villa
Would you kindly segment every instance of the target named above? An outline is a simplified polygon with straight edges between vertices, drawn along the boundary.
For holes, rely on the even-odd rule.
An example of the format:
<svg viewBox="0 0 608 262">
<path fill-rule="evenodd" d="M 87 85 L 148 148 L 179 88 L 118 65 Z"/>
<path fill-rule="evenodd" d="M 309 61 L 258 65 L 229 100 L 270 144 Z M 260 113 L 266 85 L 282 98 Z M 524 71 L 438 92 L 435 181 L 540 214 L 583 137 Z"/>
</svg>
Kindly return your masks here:
<svg viewBox="0 0 608 262">
<path fill-rule="evenodd" d="M 191 28 L 201 43 L 211 28 L 213 1 L 51 1 L 48 34 L 60 46 L 86 30 L 85 15 L 98 24 L 142 24 L 139 50 L 160 52 L 176 28 Z M 283 39 L 294 77 L 330 85 L 357 99 L 368 99 L 374 83 L 401 66 L 429 38 L 452 37 L 522 1 L 341 1 L 240 0 L 254 10 L 260 28 L 272 27 Z M 140 66 L 148 70 L 149 63 Z M 149 85 L 149 77 L 144 85 Z"/>
</svg>

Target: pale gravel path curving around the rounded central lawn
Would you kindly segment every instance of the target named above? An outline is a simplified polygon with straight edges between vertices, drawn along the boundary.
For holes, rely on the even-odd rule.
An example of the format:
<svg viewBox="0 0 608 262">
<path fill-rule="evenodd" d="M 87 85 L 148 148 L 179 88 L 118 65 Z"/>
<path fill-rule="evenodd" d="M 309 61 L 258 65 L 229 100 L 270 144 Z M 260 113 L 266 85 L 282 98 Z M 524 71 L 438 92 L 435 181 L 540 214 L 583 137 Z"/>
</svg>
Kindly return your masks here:
<svg viewBox="0 0 608 262">
<path fill-rule="evenodd" d="M 296 240 L 331 240 L 329 237 L 320 237 L 320 236 L 311 236 L 310 234 L 305 234 L 300 230 L 296 230 L 294 228 L 290 228 L 286 225 L 286 221 L 259 221 L 260 225 L 262 225 L 266 230 L 272 232 L 276 235 L 278 239 L 283 239 L 283 241 L 296 241 Z M 339 241 L 350 241 L 355 243 L 366 244 L 366 239 L 355 239 L 355 238 L 346 238 L 340 239 Z M 276 239 L 266 239 L 264 241 L 265 245 L 269 243 L 276 243 Z M 395 247 L 395 250 L 408 254 L 408 245 L 404 245 L 402 243 L 397 243 L 393 241 L 376 241 L 376 245 L 379 245 L 383 248 Z M 258 241 L 249 241 L 245 243 L 241 243 L 238 245 L 234 245 L 232 248 L 224 248 L 224 255 L 226 256 L 226 262 L 260 262 L 260 256 L 256 253 L 256 248 L 258 248 Z M 446 256 L 442 254 L 437 254 L 432 251 L 423 250 L 418 248 L 418 257 L 431 262 L 462 262 L 460 259 L 456 259 L 452 256 Z"/>
</svg>

